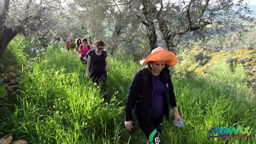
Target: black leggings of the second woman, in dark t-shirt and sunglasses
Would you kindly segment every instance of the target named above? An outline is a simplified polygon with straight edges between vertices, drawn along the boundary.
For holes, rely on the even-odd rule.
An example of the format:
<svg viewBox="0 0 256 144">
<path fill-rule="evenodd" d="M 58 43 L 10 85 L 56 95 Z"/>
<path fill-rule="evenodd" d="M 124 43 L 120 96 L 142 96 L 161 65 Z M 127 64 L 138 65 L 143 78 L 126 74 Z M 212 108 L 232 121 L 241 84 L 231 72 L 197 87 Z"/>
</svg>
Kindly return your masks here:
<svg viewBox="0 0 256 144">
<path fill-rule="evenodd" d="M 100 92 L 104 94 L 107 81 L 107 72 L 105 70 L 97 72 L 92 70 L 90 72 L 90 78 L 92 78 L 92 81 L 95 82 L 97 86 L 100 86 Z M 103 96 L 103 98 L 106 100 L 105 96 Z"/>
</svg>

